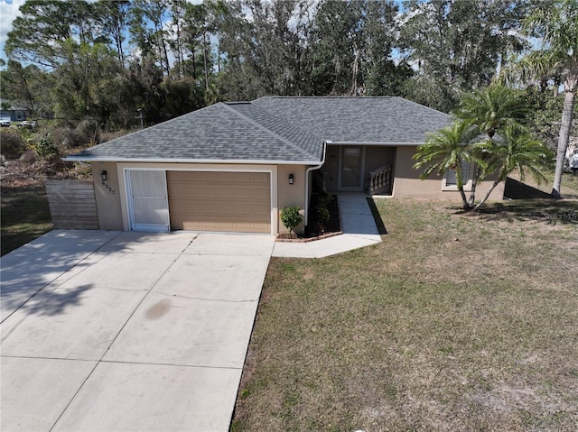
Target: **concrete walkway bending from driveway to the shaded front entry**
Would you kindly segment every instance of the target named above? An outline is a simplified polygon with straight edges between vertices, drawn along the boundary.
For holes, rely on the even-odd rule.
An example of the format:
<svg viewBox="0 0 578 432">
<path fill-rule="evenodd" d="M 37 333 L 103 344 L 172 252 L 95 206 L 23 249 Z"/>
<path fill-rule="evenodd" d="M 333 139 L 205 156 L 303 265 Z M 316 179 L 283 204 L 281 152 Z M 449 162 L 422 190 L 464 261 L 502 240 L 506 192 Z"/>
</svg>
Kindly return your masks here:
<svg viewBox="0 0 578 432">
<path fill-rule="evenodd" d="M 338 196 L 343 234 L 309 243 L 276 242 L 273 256 L 323 258 L 381 242 L 365 194 Z"/>
</svg>

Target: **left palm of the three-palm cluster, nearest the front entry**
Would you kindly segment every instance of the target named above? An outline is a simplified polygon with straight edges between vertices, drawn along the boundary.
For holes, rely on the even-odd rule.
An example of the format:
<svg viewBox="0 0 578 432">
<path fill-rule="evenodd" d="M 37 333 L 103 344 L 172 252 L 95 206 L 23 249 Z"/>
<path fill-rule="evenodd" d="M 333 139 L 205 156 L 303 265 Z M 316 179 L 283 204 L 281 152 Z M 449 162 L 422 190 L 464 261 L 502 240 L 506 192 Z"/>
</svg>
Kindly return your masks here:
<svg viewBox="0 0 578 432">
<path fill-rule="evenodd" d="M 455 171 L 455 178 L 464 210 L 470 210 L 466 194 L 463 190 L 463 173 L 461 161 L 474 160 L 471 152 L 471 142 L 479 136 L 479 129 L 471 122 L 456 119 L 449 126 L 436 133 L 429 133 L 424 144 L 415 152 L 415 169 L 425 166 L 420 179 L 426 179 L 433 171 L 443 176 L 448 170 Z"/>
</svg>

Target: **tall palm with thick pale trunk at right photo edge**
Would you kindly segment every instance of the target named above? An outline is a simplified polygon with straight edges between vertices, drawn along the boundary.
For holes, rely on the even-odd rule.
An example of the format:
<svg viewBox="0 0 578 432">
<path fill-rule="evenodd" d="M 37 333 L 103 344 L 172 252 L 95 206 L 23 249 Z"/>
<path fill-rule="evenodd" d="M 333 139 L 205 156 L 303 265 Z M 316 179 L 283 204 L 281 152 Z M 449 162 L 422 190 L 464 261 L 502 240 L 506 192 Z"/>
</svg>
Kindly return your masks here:
<svg viewBox="0 0 578 432">
<path fill-rule="evenodd" d="M 561 198 L 564 158 L 570 139 L 578 87 L 578 2 L 558 0 L 539 4 L 534 13 L 528 16 L 525 27 L 530 36 L 542 38 L 544 46 L 519 60 L 514 69 L 517 69 L 524 80 L 543 77 L 564 79 L 564 108 L 552 188 L 552 196 Z"/>
</svg>

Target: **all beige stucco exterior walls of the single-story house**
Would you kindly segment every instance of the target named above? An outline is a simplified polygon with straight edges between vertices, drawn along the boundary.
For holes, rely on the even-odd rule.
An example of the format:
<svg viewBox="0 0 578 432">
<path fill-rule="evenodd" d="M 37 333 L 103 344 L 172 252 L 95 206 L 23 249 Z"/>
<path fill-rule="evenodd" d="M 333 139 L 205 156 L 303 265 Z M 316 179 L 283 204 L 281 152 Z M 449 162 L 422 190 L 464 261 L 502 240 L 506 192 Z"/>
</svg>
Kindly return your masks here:
<svg viewBox="0 0 578 432">
<path fill-rule="evenodd" d="M 394 161 L 394 187 L 393 196 L 398 198 L 434 198 L 444 200 L 460 200 L 457 190 L 443 190 L 443 180 L 433 176 L 431 179 L 419 179 L 419 171 L 412 168 L 414 161 L 412 155 L 415 146 L 397 147 L 396 149 L 367 150 L 368 160 L 372 161 L 379 157 L 381 161 L 393 158 Z M 376 162 L 377 163 L 377 162 Z M 335 167 L 333 167 L 335 164 Z M 306 165 L 256 165 L 256 164 L 195 164 L 195 163 L 144 163 L 144 162 L 93 162 L 95 196 L 97 199 L 98 222 L 101 229 L 105 230 L 128 230 L 129 217 L 126 202 L 126 169 L 151 169 L 151 170 L 217 170 L 217 171 L 267 171 L 271 173 L 271 232 L 272 234 L 284 233 L 286 228 L 281 223 L 280 212 L 284 207 L 299 206 L 302 209 L 303 218 L 306 202 L 306 176 L 311 178 L 311 172 L 307 174 Z M 327 176 L 327 170 L 335 168 L 333 177 Z M 374 167 L 377 168 L 377 167 Z M 100 179 L 102 170 L 107 170 L 107 181 L 103 185 Z M 337 170 L 339 170 L 339 147 L 328 147 L 325 171 L 325 181 L 328 191 L 337 189 Z M 294 184 L 289 184 L 289 174 L 294 175 Z M 330 188 L 334 182 L 335 188 Z M 491 185 L 491 180 L 478 185 L 477 196 L 482 197 Z M 307 195 L 311 195 L 312 182 L 310 179 Z M 114 191 L 114 194 L 112 193 Z M 501 199 L 504 193 L 504 184 L 501 183 L 494 189 L 490 198 Z M 303 231 L 304 222 L 297 228 Z"/>
</svg>

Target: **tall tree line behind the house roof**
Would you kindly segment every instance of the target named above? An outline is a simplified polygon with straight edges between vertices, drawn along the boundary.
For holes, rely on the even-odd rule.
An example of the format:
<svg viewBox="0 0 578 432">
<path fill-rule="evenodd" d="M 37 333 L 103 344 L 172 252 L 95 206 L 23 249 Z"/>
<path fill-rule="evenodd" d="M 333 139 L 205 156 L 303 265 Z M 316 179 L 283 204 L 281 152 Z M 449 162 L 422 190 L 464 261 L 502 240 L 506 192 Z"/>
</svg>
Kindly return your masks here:
<svg viewBox="0 0 578 432">
<path fill-rule="evenodd" d="M 3 97 L 33 115 L 154 124 L 219 100 L 407 97 L 449 111 L 529 48 L 543 0 L 27 0 Z"/>
</svg>

